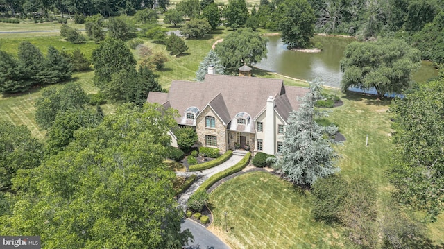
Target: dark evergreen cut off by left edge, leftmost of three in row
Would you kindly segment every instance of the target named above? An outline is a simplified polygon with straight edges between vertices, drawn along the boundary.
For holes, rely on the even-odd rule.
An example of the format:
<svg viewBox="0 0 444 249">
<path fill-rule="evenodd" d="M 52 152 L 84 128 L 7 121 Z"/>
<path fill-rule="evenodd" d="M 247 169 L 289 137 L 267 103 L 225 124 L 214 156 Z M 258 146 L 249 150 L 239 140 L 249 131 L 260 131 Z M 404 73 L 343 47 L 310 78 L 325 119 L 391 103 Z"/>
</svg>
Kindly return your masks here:
<svg viewBox="0 0 444 249">
<path fill-rule="evenodd" d="M 25 92 L 31 87 L 31 81 L 24 80 L 24 69 L 17 58 L 0 51 L 0 92 L 10 94 Z"/>
</svg>

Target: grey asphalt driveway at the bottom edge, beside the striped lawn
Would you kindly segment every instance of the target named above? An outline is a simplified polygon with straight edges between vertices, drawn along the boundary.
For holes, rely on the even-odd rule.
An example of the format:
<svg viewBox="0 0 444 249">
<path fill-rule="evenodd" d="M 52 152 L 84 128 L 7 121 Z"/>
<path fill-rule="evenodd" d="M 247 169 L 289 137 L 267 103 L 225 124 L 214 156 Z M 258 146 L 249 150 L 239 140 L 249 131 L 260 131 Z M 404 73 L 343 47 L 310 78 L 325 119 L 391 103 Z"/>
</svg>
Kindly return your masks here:
<svg viewBox="0 0 444 249">
<path fill-rule="evenodd" d="M 185 246 L 187 249 L 230 249 L 216 235 L 208 231 L 203 225 L 200 225 L 189 219 L 182 221 L 181 230 L 189 229 L 194 236 L 194 242 L 189 241 Z"/>
</svg>

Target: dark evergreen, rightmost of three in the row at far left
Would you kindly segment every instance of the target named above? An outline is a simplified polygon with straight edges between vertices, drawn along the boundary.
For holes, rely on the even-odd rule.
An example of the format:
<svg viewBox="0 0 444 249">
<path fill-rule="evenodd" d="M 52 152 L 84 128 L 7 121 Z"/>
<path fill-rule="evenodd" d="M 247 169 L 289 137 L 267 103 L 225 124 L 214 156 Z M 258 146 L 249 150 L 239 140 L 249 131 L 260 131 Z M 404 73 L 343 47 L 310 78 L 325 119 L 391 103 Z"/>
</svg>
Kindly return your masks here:
<svg viewBox="0 0 444 249">
<path fill-rule="evenodd" d="M 53 84 L 71 78 L 72 64 L 53 46 L 48 47 L 44 69 L 38 74 L 41 83 Z"/>
</svg>

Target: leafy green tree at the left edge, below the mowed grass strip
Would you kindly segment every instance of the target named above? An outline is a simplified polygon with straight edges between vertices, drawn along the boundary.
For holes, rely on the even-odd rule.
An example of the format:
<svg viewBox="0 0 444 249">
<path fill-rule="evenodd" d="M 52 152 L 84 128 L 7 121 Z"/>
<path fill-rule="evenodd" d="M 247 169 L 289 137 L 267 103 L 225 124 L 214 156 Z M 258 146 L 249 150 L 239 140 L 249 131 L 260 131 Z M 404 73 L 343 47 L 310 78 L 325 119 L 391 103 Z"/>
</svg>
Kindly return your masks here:
<svg viewBox="0 0 444 249">
<path fill-rule="evenodd" d="M 31 137 L 28 128 L 0 121 L 0 191 L 10 191 L 19 169 L 39 166 L 42 152 L 43 144 Z"/>
</svg>

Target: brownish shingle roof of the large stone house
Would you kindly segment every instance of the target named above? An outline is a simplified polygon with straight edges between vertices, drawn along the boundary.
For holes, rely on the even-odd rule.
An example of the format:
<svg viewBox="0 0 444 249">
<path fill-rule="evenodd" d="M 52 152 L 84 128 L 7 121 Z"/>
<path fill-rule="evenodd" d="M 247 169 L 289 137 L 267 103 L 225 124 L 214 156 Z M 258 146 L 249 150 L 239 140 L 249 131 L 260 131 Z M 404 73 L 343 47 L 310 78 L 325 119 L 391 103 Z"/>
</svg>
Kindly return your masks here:
<svg viewBox="0 0 444 249">
<path fill-rule="evenodd" d="M 287 119 L 288 112 L 298 108 L 296 97 L 307 91 L 302 87 L 284 87 L 279 79 L 207 74 L 203 82 L 174 80 L 168 94 L 150 92 L 147 101 L 161 104 L 169 101 L 180 115 L 191 106 L 203 110 L 210 104 L 229 123 L 239 112 L 256 117 L 264 109 L 268 96 L 275 96 L 277 112 Z M 180 118 L 176 121 L 181 123 Z"/>
</svg>

